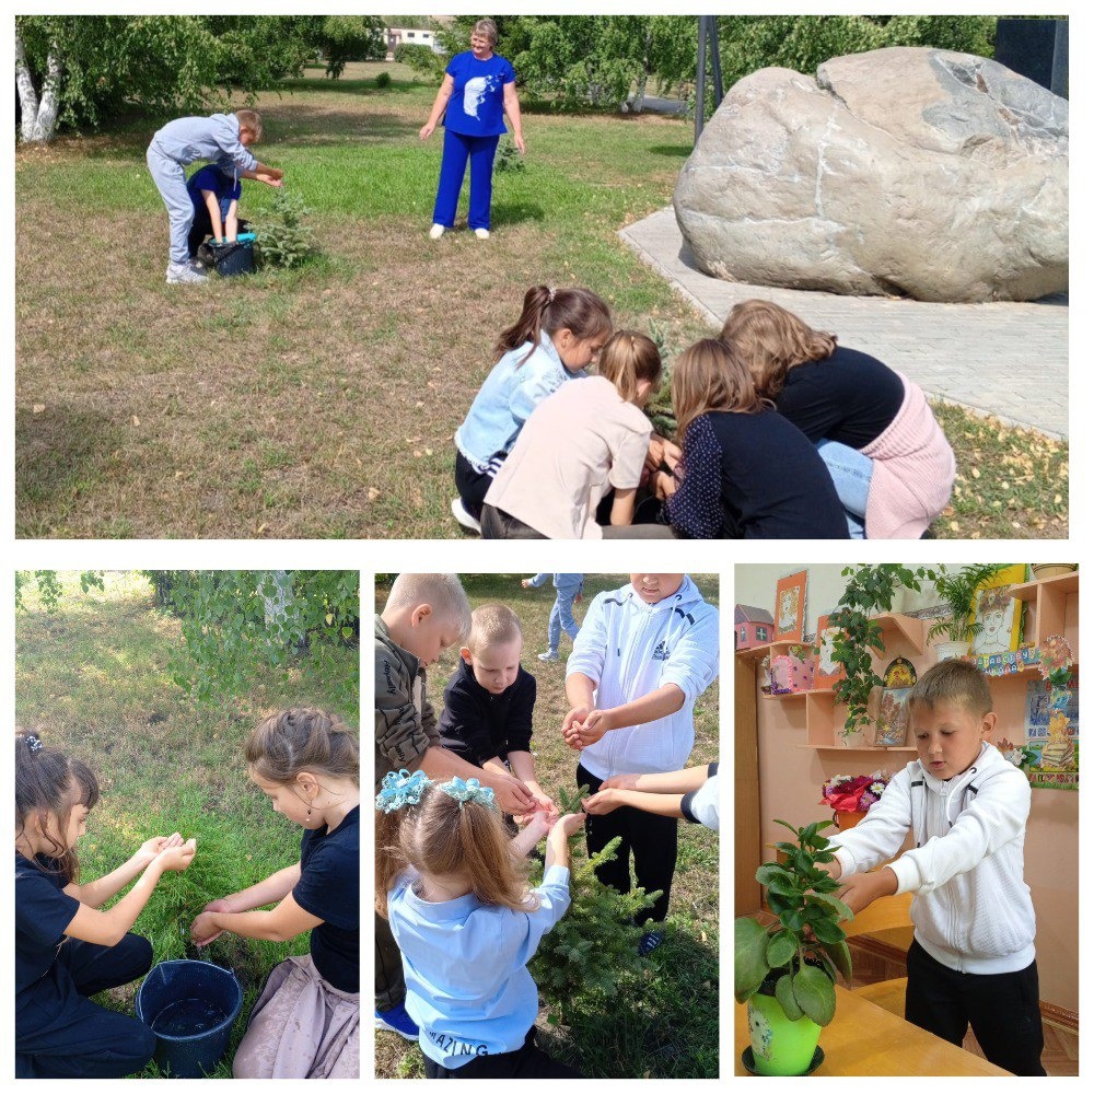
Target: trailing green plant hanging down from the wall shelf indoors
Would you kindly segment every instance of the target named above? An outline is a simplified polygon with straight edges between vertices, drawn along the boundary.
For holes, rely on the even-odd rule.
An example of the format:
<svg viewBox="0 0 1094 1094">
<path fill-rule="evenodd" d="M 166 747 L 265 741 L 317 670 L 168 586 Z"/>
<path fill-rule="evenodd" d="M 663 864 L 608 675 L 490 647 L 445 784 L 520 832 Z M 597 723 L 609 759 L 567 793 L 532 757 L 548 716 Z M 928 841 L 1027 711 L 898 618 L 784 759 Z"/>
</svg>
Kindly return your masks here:
<svg viewBox="0 0 1094 1094">
<path fill-rule="evenodd" d="M 885 652 L 882 628 L 873 618 L 877 613 L 891 612 L 898 589 L 921 589 L 923 579 L 934 578 L 926 567 L 881 562 L 876 566 L 849 566 L 842 571 L 847 578 L 843 595 L 836 610 L 828 617 L 828 625 L 837 628 L 833 639 L 833 660 L 843 666 L 846 676 L 833 686 L 836 699 L 847 707 L 843 734 L 854 732 L 870 722 L 870 694 L 885 683 L 874 672 L 873 655 Z"/>
</svg>

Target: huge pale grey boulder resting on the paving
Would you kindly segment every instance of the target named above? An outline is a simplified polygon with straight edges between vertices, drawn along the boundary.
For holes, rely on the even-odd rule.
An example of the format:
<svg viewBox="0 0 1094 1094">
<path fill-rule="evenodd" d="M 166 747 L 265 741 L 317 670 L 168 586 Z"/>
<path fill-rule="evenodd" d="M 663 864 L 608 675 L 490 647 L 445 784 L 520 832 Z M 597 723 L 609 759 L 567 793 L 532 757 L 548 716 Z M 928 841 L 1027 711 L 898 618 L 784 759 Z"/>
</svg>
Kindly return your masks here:
<svg viewBox="0 0 1094 1094">
<path fill-rule="evenodd" d="M 738 81 L 684 165 L 699 266 L 932 301 L 1068 286 L 1068 104 L 968 54 L 877 49 Z"/>
</svg>

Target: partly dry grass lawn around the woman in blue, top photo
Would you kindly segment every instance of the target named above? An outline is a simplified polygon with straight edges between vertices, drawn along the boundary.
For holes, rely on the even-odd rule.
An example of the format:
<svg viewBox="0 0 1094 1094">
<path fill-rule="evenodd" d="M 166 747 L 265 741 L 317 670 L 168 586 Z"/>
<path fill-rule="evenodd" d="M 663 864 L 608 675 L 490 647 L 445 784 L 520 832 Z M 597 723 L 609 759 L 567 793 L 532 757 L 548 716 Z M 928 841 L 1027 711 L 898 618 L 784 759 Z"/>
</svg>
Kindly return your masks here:
<svg viewBox="0 0 1094 1094">
<path fill-rule="evenodd" d="M 526 108 L 494 236 L 434 243 L 441 135 L 418 139 L 434 94 L 356 65 L 263 96 L 259 155 L 312 209 L 322 255 L 209 286 L 163 283 L 143 153 L 166 119 L 16 151 L 20 536 L 456 537 L 452 434 L 529 286 L 587 286 L 673 351 L 710 334 L 617 236 L 670 201 L 686 119 Z M 241 210 L 260 221 L 272 197 L 247 183 Z M 963 472 L 1034 447 L 996 428 L 980 447 L 976 421 L 946 419 Z M 935 534 L 1066 535 L 1067 446 L 1036 446 L 1028 490 L 955 505 Z"/>
</svg>

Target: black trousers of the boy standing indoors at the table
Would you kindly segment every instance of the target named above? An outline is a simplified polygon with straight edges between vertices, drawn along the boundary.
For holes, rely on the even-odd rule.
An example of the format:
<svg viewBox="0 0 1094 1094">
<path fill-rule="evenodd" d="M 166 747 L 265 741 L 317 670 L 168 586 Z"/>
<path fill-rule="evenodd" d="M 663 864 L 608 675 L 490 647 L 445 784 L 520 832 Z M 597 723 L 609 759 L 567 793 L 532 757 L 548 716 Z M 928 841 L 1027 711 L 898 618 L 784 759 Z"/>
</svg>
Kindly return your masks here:
<svg viewBox="0 0 1094 1094">
<path fill-rule="evenodd" d="M 1019 973 L 958 973 L 918 942 L 908 951 L 904 1016 L 954 1045 L 971 1025 L 984 1055 L 1015 1075 L 1045 1074 L 1039 1000 L 1036 962 Z"/>
</svg>

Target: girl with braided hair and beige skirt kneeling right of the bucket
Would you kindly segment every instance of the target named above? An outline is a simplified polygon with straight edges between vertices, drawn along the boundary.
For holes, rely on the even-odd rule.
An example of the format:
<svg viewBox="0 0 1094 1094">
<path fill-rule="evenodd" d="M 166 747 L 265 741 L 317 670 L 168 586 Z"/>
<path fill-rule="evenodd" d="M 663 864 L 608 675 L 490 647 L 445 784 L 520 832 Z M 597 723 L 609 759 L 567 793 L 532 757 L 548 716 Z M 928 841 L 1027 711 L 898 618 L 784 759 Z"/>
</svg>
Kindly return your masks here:
<svg viewBox="0 0 1094 1094">
<path fill-rule="evenodd" d="M 236 1079 L 356 1079 L 359 1064 L 360 877 L 358 744 L 322 710 L 267 718 L 244 747 L 247 772 L 275 811 L 304 829 L 300 861 L 206 905 L 190 938 L 225 931 L 287 942 L 309 954 L 275 967 L 251 1012 Z M 274 905 L 268 910 L 266 905 Z M 322 1015 L 323 1021 L 316 1021 Z"/>
</svg>

